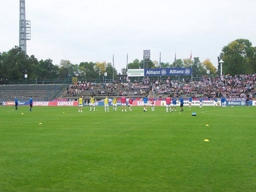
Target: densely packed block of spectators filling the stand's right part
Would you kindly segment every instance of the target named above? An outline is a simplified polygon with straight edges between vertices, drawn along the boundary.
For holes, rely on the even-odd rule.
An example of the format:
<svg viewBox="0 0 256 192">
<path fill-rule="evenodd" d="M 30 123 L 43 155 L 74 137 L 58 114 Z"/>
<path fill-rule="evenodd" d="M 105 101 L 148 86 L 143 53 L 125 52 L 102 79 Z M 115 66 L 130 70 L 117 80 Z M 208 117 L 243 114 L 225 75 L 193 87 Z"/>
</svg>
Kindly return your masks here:
<svg viewBox="0 0 256 192">
<path fill-rule="evenodd" d="M 194 98 L 246 98 L 254 97 L 256 93 L 256 74 L 240 74 L 217 76 L 215 78 L 202 76 L 198 81 L 188 82 L 188 79 L 178 82 L 167 78 L 160 85 L 158 80 L 151 81 L 153 94 L 159 96 L 176 94 Z"/>
</svg>

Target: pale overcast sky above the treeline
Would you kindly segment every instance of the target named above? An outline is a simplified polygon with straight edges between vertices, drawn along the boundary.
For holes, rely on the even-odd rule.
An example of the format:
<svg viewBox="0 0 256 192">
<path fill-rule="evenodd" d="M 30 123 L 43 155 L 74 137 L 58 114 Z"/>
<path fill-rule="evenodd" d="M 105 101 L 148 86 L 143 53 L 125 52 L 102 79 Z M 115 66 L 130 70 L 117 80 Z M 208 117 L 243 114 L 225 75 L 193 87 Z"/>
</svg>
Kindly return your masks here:
<svg viewBox="0 0 256 192">
<path fill-rule="evenodd" d="M 0 52 L 19 45 L 18 0 L 1 0 Z M 111 62 L 121 71 L 150 49 L 159 62 L 199 57 L 217 66 L 223 46 L 256 46 L 256 0 L 26 0 L 28 56 L 38 60 Z"/>
</svg>

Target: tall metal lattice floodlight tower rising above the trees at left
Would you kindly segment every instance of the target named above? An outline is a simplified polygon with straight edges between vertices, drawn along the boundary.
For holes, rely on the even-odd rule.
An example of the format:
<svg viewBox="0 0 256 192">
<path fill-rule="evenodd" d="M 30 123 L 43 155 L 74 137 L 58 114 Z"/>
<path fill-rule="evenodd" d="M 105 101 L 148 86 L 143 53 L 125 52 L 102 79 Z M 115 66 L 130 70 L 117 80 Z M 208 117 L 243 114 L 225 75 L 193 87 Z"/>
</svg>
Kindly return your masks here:
<svg viewBox="0 0 256 192">
<path fill-rule="evenodd" d="M 25 0 L 20 0 L 20 43 L 19 47 L 22 51 L 27 52 L 26 40 L 31 39 L 30 21 L 26 20 Z"/>
</svg>

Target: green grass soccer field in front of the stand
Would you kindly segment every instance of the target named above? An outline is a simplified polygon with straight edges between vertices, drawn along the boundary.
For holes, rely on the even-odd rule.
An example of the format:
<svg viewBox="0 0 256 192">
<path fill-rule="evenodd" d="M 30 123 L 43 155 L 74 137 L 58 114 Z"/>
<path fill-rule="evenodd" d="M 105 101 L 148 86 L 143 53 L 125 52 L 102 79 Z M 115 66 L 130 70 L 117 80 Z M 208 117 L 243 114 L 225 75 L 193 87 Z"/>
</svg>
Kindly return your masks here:
<svg viewBox="0 0 256 192">
<path fill-rule="evenodd" d="M 254 107 L 14 108 L 0 107 L 1 192 L 256 191 Z"/>
</svg>

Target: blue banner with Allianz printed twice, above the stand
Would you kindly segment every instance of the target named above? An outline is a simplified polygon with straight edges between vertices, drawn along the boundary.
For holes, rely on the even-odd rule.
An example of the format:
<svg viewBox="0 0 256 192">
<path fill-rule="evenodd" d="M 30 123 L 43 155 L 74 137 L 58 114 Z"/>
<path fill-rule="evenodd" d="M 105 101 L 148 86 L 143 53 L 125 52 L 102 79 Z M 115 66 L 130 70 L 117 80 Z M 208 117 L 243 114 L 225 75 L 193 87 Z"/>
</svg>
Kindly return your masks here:
<svg viewBox="0 0 256 192">
<path fill-rule="evenodd" d="M 192 75 L 192 68 L 156 68 L 144 69 L 144 76 L 174 76 L 174 75 Z"/>
</svg>

